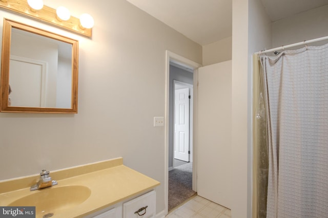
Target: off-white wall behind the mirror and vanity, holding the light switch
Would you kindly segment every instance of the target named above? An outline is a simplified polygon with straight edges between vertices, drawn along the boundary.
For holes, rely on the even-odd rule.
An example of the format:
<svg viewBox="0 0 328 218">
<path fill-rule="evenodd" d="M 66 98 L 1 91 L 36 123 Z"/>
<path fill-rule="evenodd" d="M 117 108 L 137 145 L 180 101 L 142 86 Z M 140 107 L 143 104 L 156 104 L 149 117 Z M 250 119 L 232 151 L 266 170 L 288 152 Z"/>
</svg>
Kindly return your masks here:
<svg viewBox="0 0 328 218">
<path fill-rule="evenodd" d="M 0 113 L 0 179 L 121 156 L 161 183 L 156 211 L 164 210 L 165 128 L 153 117 L 165 115 L 166 50 L 201 63 L 201 46 L 126 1 L 46 5 L 90 13 L 92 39 L 3 9 L 0 25 L 5 16 L 79 40 L 78 114 Z"/>
</svg>

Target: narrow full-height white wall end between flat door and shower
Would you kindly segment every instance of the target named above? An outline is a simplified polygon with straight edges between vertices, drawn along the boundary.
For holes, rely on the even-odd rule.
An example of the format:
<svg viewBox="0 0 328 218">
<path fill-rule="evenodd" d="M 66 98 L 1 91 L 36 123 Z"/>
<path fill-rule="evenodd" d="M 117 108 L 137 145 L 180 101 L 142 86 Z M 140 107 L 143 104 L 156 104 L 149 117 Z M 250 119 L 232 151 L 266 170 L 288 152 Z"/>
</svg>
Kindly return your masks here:
<svg viewBox="0 0 328 218">
<path fill-rule="evenodd" d="M 232 2 L 232 217 L 247 217 L 248 1 Z M 240 37 L 243 36 L 243 37 Z"/>
</svg>

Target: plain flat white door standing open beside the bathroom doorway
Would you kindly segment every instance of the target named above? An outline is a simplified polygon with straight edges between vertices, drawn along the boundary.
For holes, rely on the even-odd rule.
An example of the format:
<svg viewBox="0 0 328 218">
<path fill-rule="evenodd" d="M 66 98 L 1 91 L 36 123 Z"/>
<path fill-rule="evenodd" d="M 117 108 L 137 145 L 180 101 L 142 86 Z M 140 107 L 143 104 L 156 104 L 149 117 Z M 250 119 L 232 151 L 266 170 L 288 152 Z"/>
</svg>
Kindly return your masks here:
<svg viewBox="0 0 328 218">
<path fill-rule="evenodd" d="M 231 208 L 231 61 L 198 69 L 197 193 Z"/>
</svg>

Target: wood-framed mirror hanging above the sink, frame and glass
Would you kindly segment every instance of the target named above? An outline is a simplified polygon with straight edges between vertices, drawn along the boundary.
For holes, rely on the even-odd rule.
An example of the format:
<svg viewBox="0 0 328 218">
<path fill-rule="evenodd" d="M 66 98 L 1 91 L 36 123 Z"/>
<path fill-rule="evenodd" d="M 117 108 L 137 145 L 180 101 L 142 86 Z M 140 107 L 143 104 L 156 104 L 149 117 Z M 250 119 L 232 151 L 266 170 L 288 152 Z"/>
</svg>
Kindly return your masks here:
<svg viewBox="0 0 328 218">
<path fill-rule="evenodd" d="M 78 41 L 4 19 L 1 112 L 77 113 Z"/>
</svg>

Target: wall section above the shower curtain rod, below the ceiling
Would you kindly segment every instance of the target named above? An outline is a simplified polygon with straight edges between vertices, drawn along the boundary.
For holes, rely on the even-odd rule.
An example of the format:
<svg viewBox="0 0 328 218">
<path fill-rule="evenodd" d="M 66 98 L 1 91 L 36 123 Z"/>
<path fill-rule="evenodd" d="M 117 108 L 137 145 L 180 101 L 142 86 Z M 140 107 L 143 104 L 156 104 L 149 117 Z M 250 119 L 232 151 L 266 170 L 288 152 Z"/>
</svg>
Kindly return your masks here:
<svg viewBox="0 0 328 218">
<path fill-rule="evenodd" d="M 327 11 L 328 5 L 273 22 L 273 47 L 328 36 Z"/>
</svg>

